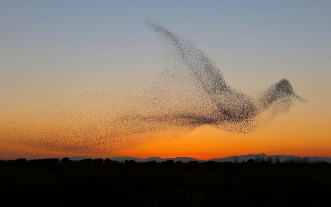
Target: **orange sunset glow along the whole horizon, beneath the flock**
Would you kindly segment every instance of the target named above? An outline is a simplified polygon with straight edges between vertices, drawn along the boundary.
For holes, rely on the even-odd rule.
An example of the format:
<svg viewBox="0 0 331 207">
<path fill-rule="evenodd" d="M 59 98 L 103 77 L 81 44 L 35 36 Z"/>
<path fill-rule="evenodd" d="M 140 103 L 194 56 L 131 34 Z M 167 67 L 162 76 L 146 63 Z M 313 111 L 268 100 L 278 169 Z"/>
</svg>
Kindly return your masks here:
<svg viewBox="0 0 331 207">
<path fill-rule="evenodd" d="M 237 135 L 210 126 L 203 126 L 178 139 L 158 139 L 151 143 L 108 153 L 70 153 L 0 144 L 0 159 L 61 158 L 87 155 L 93 158 L 194 157 L 208 160 L 260 153 L 331 157 L 329 123 L 320 119 L 321 116 L 328 115 L 312 111 L 301 113 L 303 110 L 305 110 L 305 106 L 297 106 L 290 113 L 281 115 L 267 126 L 248 134 Z M 167 137 L 166 134 L 164 136 Z"/>
</svg>

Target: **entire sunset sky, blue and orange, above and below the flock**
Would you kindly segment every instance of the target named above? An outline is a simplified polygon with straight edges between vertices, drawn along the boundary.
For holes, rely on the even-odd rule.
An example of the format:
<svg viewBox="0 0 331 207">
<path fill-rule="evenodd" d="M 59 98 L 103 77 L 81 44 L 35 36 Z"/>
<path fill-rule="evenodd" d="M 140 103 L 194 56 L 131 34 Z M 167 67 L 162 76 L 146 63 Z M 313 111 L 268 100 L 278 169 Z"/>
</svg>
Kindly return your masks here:
<svg viewBox="0 0 331 207">
<path fill-rule="evenodd" d="M 331 157 L 329 1 L 0 1 L 0 121 L 162 71 L 149 19 L 191 40 L 244 92 L 287 78 L 308 100 L 248 134 L 203 126 L 109 153 L 0 143 L 0 159 L 88 155 L 200 159 L 265 153 Z"/>
</svg>

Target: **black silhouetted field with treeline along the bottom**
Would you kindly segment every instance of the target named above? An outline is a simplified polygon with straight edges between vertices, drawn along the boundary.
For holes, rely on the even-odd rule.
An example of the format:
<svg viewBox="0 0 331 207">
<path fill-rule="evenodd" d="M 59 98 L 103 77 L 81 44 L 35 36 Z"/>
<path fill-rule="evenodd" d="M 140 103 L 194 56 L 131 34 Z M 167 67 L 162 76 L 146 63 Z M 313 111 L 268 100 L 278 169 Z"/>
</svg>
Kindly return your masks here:
<svg viewBox="0 0 331 207">
<path fill-rule="evenodd" d="M 331 164 L 0 161 L 0 206 L 331 206 Z"/>
</svg>

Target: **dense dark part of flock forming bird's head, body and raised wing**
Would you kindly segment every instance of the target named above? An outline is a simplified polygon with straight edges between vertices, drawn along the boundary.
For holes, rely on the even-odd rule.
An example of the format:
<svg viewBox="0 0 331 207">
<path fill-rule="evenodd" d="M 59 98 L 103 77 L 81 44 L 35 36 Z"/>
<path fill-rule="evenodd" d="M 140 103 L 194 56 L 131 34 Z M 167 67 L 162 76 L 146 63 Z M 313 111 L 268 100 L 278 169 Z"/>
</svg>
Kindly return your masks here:
<svg viewBox="0 0 331 207">
<path fill-rule="evenodd" d="M 256 97 L 245 94 L 231 87 L 210 57 L 191 41 L 180 37 L 157 22 L 147 19 L 144 22 L 158 35 L 163 45 L 173 48 L 172 51 L 177 53 L 177 56 L 184 62 L 216 106 L 212 115 L 208 117 L 181 114 L 177 116 L 178 118 L 190 120 L 193 125 L 198 126 L 219 125 L 220 123 L 235 125 L 254 119 L 271 108 L 277 101 L 286 102 L 287 105 L 291 105 L 293 101 L 306 102 L 304 98 L 295 94 L 291 83 L 286 78 L 262 90 Z"/>
</svg>

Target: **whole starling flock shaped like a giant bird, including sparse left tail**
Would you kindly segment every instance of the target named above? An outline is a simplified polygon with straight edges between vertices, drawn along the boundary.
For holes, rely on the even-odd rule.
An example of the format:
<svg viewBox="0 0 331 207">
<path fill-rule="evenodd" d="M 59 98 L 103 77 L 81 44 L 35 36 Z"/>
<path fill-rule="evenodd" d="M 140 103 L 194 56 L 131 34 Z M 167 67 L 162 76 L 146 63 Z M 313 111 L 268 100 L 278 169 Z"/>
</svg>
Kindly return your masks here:
<svg viewBox="0 0 331 207">
<path fill-rule="evenodd" d="M 255 95 L 232 88 L 215 63 L 189 40 L 145 20 L 164 46 L 165 69 L 119 91 L 82 93 L 9 118 L 0 143 L 68 152 L 116 152 L 176 139 L 203 125 L 250 133 L 286 113 L 296 95 L 281 79 Z"/>
</svg>

